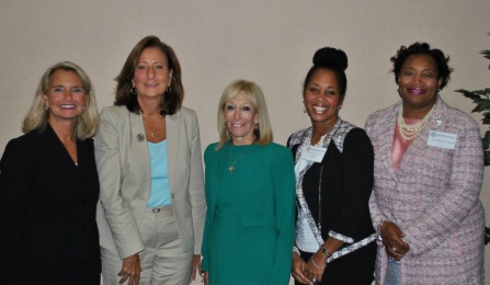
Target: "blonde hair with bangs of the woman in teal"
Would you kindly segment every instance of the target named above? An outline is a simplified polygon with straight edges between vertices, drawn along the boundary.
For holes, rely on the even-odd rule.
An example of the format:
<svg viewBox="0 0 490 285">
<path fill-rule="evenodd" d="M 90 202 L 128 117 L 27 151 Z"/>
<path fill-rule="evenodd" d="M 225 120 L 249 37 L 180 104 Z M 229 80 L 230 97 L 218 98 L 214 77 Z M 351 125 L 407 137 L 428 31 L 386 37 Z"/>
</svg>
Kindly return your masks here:
<svg viewBox="0 0 490 285">
<path fill-rule="evenodd" d="M 255 138 L 254 144 L 267 145 L 273 140 L 271 121 L 269 119 L 267 105 L 265 104 L 264 94 L 261 88 L 247 80 L 236 80 L 228 84 L 223 91 L 221 99 L 219 99 L 218 104 L 218 133 L 219 133 L 219 144 L 216 146 L 216 150 L 220 149 L 227 140 L 230 139 L 229 130 L 225 127 L 225 105 L 228 101 L 236 98 L 240 92 L 243 92 L 247 99 L 252 104 L 259 115 L 259 128 L 253 129 L 253 135 Z"/>
</svg>

